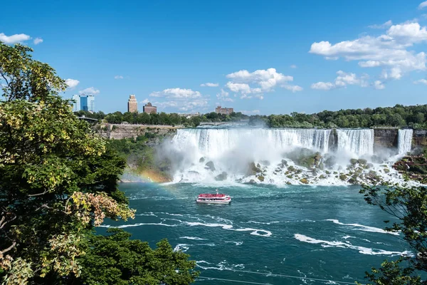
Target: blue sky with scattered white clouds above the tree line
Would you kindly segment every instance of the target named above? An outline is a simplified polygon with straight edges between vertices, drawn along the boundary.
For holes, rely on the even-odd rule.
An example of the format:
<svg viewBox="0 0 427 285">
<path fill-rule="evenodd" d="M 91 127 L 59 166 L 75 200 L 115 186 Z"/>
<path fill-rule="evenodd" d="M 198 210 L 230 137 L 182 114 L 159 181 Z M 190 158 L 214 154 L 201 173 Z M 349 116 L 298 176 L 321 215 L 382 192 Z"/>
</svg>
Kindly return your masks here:
<svg viewBox="0 0 427 285">
<path fill-rule="evenodd" d="M 2 9 L 0 41 L 33 47 L 69 79 L 65 98 L 94 93 L 105 113 L 127 110 L 130 94 L 139 110 L 150 101 L 167 113 L 427 103 L 427 1 L 6 1 Z"/>
</svg>

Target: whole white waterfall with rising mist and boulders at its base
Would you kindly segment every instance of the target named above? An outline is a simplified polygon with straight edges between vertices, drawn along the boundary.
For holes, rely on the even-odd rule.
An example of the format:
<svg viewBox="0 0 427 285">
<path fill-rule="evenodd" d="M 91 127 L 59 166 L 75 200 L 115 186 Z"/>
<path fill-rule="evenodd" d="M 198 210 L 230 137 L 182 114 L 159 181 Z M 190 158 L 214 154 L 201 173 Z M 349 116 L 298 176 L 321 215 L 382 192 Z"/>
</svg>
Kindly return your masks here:
<svg viewBox="0 0 427 285">
<path fill-rule="evenodd" d="M 399 135 L 399 152 L 410 150 L 411 135 Z M 362 182 L 365 176 L 396 180 L 390 166 L 397 154 L 381 149 L 374 153 L 371 129 L 179 129 L 162 150 L 172 162 L 176 182 L 278 184 L 346 184 Z"/>
</svg>

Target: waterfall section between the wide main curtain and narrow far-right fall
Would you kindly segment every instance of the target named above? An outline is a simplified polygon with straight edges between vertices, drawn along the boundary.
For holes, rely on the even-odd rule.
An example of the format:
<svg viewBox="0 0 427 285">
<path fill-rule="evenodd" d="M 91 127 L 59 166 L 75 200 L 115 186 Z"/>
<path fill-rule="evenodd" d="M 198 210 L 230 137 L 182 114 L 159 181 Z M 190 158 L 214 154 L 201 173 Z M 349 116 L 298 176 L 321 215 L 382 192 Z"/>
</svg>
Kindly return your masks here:
<svg viewBox="0 0 427 285">
<path fill-rule="evenodd" d="M 338 151 L 353 155 L 374 154 L 374 130 L 370 129 L 337 129 Z"/>
</svg>

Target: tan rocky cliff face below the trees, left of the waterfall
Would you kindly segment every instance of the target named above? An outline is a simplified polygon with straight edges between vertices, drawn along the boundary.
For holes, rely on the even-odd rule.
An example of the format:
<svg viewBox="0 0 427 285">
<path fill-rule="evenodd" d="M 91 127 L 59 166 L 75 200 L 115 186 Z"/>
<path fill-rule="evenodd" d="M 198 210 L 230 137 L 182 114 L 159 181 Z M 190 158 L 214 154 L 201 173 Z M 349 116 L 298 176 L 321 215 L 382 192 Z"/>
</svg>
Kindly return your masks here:
<svg viewBox="0 0 427 285">
<path fill-rule="evenodd" d="M 152 135 L 174 135 L 181 127 L 172 125 L 99 125 L 97 132 L 104 138 L 121 140 L 122 138 L 137 138 L 146 133 Z"/>
</svg>

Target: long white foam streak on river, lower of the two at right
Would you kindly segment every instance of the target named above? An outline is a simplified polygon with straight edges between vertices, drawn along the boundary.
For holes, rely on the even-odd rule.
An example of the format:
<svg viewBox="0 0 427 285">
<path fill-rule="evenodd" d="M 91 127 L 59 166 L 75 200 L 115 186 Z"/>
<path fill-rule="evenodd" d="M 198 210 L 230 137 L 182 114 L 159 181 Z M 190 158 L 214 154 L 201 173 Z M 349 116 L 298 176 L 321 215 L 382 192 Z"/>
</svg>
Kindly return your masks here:
<svg viewBox="0 0 427 285">
<path fill-rule="evenodd" d="M 294 234 L 295 239 L 299 240 L 300 242 L 307 242 L 309 244 L 320 244 L 322 247 L 341 247 L 344 249 L 355 249 L 360 254 L 367 254 L 367 255 L 389 255 L 391 257 L 401 255 L 401 256 L 408 256 L 411 255 L 411 252 L 404 251 L 404 252 L 391 252 L 384 249 L 371 249 L 368 247 L 359 247 L 356 245 L 351 244 L 350 242 L 329 242 L 322 239 L 314 239 L 312 237 L 307 237 L 304 234 Z"/>
</svg>

